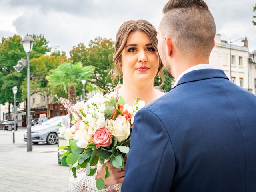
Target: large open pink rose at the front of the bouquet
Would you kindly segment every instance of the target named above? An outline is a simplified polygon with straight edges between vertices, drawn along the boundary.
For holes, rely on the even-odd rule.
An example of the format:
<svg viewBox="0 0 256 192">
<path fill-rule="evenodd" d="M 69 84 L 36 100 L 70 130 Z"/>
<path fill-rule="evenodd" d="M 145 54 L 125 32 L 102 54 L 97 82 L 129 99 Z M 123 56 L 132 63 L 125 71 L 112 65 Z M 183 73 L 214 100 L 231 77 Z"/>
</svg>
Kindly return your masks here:
<svg viewBox="0 0 256 192">
<path fill-rule="evenodd" d="M 112 135 L 107 128 L 101 128 L 96 130 L 92 141 L 96 144 L 96 148 L 108 147 L 112 143 Z"/>
</svg>

